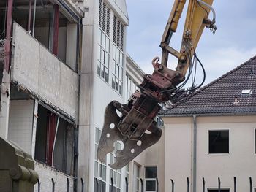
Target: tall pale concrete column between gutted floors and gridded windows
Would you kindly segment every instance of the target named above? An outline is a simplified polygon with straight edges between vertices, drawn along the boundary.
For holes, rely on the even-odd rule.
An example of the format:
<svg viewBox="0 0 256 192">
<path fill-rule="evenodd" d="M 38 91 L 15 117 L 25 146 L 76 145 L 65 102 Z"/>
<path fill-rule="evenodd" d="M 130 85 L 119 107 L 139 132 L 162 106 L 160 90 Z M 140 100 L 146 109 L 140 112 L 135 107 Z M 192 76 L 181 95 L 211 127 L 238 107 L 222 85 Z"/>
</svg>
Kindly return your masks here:
<svg viewBox="0 0 256 192">
<path fill-rule="evenodd" d="M 94 99 L 94 20 L 98 18 L 95 4 L 99 4 L 99 1 L 85 1 L 85 6 L 89 9 L 83 18 L 82 58 L 79 69 L 78 180 L 83 178 L 85 192 L 91 192 L 94 188 L 94 123 L 91 116 Z M 81 191 L 80 183 L 78 191 Z"/>
</svg>

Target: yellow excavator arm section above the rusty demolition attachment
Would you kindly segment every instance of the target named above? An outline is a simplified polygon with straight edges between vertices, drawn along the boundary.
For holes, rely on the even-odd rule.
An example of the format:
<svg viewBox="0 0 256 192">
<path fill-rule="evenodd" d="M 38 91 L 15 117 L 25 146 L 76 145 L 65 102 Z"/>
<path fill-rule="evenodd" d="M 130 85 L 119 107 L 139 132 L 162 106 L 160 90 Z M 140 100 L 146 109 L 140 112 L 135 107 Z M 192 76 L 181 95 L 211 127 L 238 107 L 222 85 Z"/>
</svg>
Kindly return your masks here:
<svg viewBox="0 0 256 192">
<path fill-rule="evenodd" d="M 203 33 L 203 29 L 205 27 L 211 28 L 214 33 L 217 30 L 217 27 L 215 26 L 215 11 L 211 7 L 213 0 L 190 0 L 181 41 L 181 50 L 177 51 L 173 49 L 173 47 L 170 47 L 170 39 L 173 33 L 176 32 L 178 21 L 181 18 L 185 3 L 186 0 L 176 0 L 174 2 L 160 44 L 160 47 L 162 47 L 161 64 L 167 66 L 168 55 L 169 53 L 172 54 L 178 58 L 178 66 L 176 70 L 181 73 L 181 77 L 185 77 L 187 73 L 190 62 L 188 57 L 195 53 L 195 48 Z M 213 12 L 214 17 L 212 20 L 208 19 L 210 9 Z"/>
</svg>

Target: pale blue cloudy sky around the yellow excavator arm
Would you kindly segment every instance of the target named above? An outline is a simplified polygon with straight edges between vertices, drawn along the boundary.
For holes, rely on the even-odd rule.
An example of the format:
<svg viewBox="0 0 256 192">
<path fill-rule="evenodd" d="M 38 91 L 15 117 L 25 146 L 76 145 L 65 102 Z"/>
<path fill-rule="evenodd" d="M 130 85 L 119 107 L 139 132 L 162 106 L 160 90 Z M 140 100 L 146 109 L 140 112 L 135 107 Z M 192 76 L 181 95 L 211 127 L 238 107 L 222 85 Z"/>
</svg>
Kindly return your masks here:
<svg viewBox="0 0 256 192">
<path fill-rule="evenodd" d="M 127 53 L 146 73 L 153 72 L 152 58 L 161 56 L 159 42 L 172 6 L 173 0 L 127 0 Z M 205 28 L 196 50 L 206 69 L 206 83 L 256 55 L 256 1 L 214 0 L 213 7 L 217 13 L 216 34 Z M 170 42 L 178 50 L 186 10 Z M 176 63 L 170 55 L 168 66 L 175 68 Z"/>
</svg>

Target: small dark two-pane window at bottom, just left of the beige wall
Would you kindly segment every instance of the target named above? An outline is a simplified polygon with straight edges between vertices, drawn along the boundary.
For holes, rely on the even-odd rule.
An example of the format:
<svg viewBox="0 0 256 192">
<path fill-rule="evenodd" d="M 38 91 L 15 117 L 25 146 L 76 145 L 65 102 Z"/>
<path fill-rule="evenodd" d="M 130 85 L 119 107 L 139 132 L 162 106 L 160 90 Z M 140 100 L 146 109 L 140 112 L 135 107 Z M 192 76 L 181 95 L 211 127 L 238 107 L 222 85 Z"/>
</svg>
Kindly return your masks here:
<svg viewBox="0 0 256 192">
<path fill-rule="evenodd" d="M 157 191 L 157 166 L 145 167 L 145 191 Z"/>
</svg>

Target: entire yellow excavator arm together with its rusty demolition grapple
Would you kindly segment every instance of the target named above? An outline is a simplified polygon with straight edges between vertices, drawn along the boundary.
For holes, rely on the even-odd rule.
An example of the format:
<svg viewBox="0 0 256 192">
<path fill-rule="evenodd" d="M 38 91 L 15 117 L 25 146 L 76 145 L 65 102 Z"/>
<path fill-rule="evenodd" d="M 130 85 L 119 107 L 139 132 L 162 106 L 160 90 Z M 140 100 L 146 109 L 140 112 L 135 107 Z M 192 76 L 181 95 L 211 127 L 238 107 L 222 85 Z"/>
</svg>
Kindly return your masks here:
<svg viewBox="0 0 256 192">
<path fill-rule="evenodd" d="M 97 157 L 100 161 L 105 161 L 105 155 L 113 153 L 114 143 L 123 142 L 123 149 L 116 151 L 116 162 L 109 165 L 113 169 L 121 169 L 160 139 L 162 130 L 154 121 L 161 109 L 159 104 L 169 100 L 172 102 L 186 101 L 188 93 L 198 88 L 192 85 L 189 91 L 181 90 L 188 78 L 193 76 L 194 61 L 199 61 L 195 55 L 195 48 L 203 29 L 207 27 L 213 32 L 217 29 L 215 12 L 211 7 L 213 0 L 189 0 L 181 50 L 178 51 L 170 47 L 170 39 L 176 32 L 185 3 L 186 0 L 175 0 L 173 4 L 160 44 L 162 47 L 161 63 L 158 62 L 159 58 L 153 59 L 153 74 L 146 74 L 143 77 L 143 82 L 139 85 L 140 91 L 133 93 L 127 104 L 112 101 L 106 107 Z M 212 20 L 208 19 L 210 11 L 213 12 Z M 167 68 L 169 54 L 178 58 L 176 70 Z M 200 85 L 203 85 L 203 82 Z M 121 115 L 118 115 L 116 110 Z"/>
</svg>

